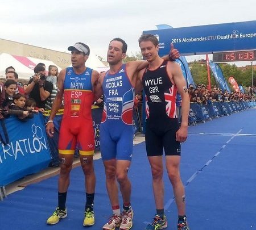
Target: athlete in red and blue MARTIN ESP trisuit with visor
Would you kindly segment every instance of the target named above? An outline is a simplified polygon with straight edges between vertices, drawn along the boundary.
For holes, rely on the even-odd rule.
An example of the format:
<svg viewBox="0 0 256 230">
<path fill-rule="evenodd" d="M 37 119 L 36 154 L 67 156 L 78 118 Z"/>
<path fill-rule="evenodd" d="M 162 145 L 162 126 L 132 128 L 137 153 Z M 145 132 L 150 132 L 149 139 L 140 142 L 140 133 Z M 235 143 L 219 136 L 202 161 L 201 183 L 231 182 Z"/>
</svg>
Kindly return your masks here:
<svg viewBox="0 0 256 230">
<path fill-rule="evenodd" d="M 57 86 L 59 93 L 53 102 L 46 131 L 53 136 L 53 118 L 59 110 L 64 95 L 64 115 L 60 127 L 59 157 L 60 177 L 58 207 L 47 220 L 56 224 L 67 216 L 65 202 L 69 186 L 69 173 L 72 169 L 73 154 L 79 148 L 81 166 L 85 174 L 86 204 L 84 226 L 94 224 L 93 200 L 95 174 L 93 169 L 94 133 L 91 107 L 94 97 L 94 84 L 98 72 L 85 66 L 90 54 L 88 45 L 76 43 L 68 48 L 72 51 L 72 67 L 61 70 Z"/>
</svg>

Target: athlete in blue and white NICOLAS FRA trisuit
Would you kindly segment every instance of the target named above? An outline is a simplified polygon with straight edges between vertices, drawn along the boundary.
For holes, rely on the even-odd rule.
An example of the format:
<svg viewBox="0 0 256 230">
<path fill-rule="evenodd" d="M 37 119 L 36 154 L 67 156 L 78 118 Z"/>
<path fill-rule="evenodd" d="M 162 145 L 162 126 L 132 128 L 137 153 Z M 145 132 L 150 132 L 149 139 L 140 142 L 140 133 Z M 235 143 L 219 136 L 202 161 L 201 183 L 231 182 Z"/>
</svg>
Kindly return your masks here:
<svg viewBox="0 0 256 230">
<path fill-rule="evenodd" d="M 95 91 L 97 99 L 100 91 L 104 94 L 104 112 L 100 127 L 100 146 L 106 173 L 106 187 L 113 216 L 103 229 L 119 227 L 121 230 L 133 226 L 131 208 L 131 183 L 127 172 L 131 164 L 133 148 L 133 103 L 137 72 L 147 66 L 146 61 L 130 61 L 122 64 L 127 44 L 122 39 L 110 41 L 107 60 L 109 71 L 101 74 Z M 179 57 L 179 52 L 172 52 Z M 102 91 L 103 88 L 103 91 Z M 123 212 L 119 208 L 118 184 L 123 199 Z"/>
</svg>

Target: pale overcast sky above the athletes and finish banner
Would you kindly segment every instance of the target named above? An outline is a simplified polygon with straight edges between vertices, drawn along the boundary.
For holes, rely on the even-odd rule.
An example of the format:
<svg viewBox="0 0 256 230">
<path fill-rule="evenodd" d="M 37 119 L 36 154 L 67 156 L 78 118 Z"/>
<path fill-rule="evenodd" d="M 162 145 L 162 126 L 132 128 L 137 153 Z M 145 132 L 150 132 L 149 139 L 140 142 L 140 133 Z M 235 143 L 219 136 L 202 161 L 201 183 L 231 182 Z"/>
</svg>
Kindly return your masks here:
<svg viewBox="0 0 256 230">
<path fill-rule="evenodd" d="M 156 30 L 157 24 L 178 28 L 245 22 L 256 20 L 255 9 L 255 0 L 1 1 L 0 38 L 61 52 L 68 52 L 69 45 L 81 41 L 106 59 L 109 41 L 114 37 L 126 41 L 131 55 L 139 52 L 142 31 Z"/>
</svg>

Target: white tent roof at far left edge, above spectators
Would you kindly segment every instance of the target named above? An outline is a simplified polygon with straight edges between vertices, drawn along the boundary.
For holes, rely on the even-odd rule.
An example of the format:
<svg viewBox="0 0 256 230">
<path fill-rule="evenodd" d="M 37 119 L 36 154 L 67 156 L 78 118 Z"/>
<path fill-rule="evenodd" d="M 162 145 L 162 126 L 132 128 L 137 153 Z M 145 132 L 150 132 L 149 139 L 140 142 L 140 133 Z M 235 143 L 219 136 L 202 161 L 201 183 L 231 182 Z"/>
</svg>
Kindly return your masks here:
<svg viewBox="0 0 256 230">
<path fill-rule="evenodd" d="M 5 69 L 13 66 L 20 79 L 30 79 L 34 71 L 7 53 L 0 54 L 0 77 L 5 78 Z"/>
</svg>

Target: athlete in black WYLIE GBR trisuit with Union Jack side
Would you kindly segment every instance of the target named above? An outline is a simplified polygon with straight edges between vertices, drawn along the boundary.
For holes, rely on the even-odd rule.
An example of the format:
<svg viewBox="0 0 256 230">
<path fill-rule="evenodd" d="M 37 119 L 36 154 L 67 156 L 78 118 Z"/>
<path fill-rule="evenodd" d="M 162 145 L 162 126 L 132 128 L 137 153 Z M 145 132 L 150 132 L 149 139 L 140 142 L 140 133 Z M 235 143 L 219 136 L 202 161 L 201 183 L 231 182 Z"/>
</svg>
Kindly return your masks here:
<svg viewBox="0 0 256 230">
<path fill-rule="evenodd" d="M 151 166 L 156 215 L 146 229 L 167 227 L 164 214 L 163 149 L 166 155 L 168 177 L 174 189 L 179 213 L 177 229 L 187 230 L 185 216 L 185 193 L 180 179 L 180 143 L 187 139 L 189 97 L 186 82 L 176 62 L 164 61 L 158 55 L 158 39 L 154 35 L 142 35 L 139 46 L 143 57 L 149 62 L 138 73 L 137 86 L 143 85 L 146 93 L 146 150 Z M 182 121 L 176 115 L 176 92 L 182 98 Z"/>
</svg>

